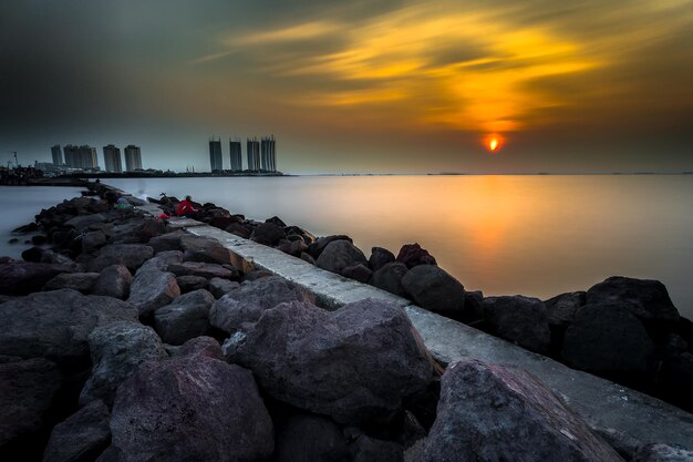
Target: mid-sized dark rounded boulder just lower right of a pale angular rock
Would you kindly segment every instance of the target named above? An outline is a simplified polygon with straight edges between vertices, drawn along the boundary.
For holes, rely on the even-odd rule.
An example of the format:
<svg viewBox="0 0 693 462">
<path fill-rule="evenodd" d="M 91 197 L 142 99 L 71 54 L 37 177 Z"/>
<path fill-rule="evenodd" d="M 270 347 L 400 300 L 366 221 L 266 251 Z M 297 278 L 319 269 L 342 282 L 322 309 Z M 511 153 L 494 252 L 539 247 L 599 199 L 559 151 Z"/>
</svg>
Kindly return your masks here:
<svg viewBox="0 0 693 462">
<path fill-rule="evenodd" d="M 209 331 L 209 308 L 214 296 L 199 289 L 182 295 L 154 311 L 154 329 L 166 343 L 183 345 Z"/>
</svg>

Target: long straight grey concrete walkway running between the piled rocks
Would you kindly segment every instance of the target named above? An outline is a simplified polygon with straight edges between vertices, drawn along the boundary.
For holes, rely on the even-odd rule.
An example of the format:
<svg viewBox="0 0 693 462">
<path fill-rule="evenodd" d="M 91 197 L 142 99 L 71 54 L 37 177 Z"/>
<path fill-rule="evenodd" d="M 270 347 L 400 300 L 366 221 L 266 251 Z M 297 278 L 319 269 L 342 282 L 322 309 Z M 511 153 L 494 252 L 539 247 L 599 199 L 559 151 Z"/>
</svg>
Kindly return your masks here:
<svg viewBox="0 0 693 462">
<path fill-rule="evenodd" d="M 328 309 L 369 297 L 392 300 L 405 309 L 426 347 L 445 365 L 472 358 L 525 369 L 560 396 L 592 428 L 611 428 L 643 443 L 680 444 L 693 450 L 693 415 L 658 399 L 570 369 L 424 310 L 406 299 L 322 270 L 275 248 L 195 220 L 175 220 L 172 227 L 218 239 L 235 254 L 238 266 L 248 267 L 252 264 L 258 269 L 282 276 L 311 290 L 318 302 Z"/>
</svg>

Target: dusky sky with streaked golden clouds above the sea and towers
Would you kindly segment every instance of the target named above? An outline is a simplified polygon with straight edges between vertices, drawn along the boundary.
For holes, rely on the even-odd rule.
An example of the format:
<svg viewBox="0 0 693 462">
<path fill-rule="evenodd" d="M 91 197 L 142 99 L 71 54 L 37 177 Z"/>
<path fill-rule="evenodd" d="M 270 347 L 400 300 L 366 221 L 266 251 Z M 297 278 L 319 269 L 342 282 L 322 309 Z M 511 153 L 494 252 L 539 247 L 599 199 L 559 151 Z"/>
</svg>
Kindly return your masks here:
<svg viewBox="0 0 693 462">
<path fill-rule="evenodd" d="M 0 0 L 0 62 L 3 164 L 275 135 L 286 173 L 693 171 L 693 0 Z"/>
</svg>

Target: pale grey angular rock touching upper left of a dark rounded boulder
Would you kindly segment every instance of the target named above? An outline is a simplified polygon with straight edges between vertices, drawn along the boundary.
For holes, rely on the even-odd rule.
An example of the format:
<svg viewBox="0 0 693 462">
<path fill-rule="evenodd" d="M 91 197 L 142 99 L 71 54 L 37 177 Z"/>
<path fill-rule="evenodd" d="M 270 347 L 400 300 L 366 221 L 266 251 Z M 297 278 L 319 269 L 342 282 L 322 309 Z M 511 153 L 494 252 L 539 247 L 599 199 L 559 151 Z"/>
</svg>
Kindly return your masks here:
<svg viewBox="0 0 693 462">
<path fill-rule="evenodd" d="M 170 304 L 179 295 L 180 288 L 173 274 L 149 270 L 135 276 L 127 301 L 143 316 Z"/>
</svg>

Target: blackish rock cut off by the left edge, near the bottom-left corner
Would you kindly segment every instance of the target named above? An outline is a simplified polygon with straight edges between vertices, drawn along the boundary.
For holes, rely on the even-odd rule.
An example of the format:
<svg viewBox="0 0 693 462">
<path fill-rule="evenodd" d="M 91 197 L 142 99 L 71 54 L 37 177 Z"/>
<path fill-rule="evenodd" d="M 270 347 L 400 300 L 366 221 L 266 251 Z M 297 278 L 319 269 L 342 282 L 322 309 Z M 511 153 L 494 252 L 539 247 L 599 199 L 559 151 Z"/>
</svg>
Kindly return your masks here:
<svg viewBox="0 0 693 462">
<path fill-rule="evenodd" d="M 63 382 L 58 367 L 46 359 L 0 357 L 0 460 L 10 459 L 12 450 L 35 445 Z"/>
</svg>

